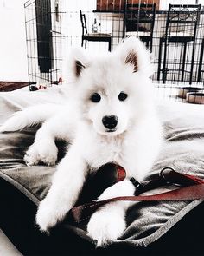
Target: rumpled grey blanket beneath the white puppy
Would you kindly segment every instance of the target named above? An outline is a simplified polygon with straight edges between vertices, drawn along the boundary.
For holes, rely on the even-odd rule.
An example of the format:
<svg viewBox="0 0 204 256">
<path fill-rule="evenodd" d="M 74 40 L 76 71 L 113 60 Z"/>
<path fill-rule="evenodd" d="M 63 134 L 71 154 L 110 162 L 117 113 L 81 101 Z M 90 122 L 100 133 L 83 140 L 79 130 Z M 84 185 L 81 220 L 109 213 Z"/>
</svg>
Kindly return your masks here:
<svg viewBox="0 0 204 256">
<path fill-rule="evenodd" d="M 0 95 L 0 124 L 23 107 L 41 102 L 61 104 L 67 100 L 66 88 L 38 92 L 13 92 Z M 165 142 L 147 181 L 154 179 L 163 167 L 174 167 L 181 173 L 204 178 L 204 107 L 178 102 L 159 102 Z M 34 140 L 36 128 L 0 134 L 0 177 L 9 181 L 36 205 L 48 192 L 55 167 L 27 167 L 23 154 Z M 61 148 L 61 145 L 59 144 Z M 62 150 L 62 148 L 61 148 Z M 154 192 L 173 189 L 158 187 Z M 127 227 L 114 245 L 140 247 L 158 240 L 202 200 L 170 202 L 137 202 L 127 213 Z M 89 242 L 86 228 L 73 226 L 73 231 Z"/>
</svg>

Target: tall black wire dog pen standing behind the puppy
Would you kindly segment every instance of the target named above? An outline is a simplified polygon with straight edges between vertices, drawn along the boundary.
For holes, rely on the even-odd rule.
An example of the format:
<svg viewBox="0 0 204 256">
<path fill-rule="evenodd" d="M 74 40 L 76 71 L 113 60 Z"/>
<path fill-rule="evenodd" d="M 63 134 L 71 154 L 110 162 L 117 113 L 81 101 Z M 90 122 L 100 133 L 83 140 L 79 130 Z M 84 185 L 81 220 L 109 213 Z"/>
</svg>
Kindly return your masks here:
<svg viewBox="0 0 204 256">
<path fill-rule="evenodd" d="M 199 0 L 27 1 L 24 7 L 30 89 L 62 82 L 63 62 L 72 46 L 83 43 L 83 47 L 102 52 L 115 49 L 127 36 L 137 36 L 151 52 L 155 64 L 152 81 L 159 89 L 158 95 L 185 101 L 187 92 L 197 91 L 194 102 L 204 103 L 201 3 Z M 86 35 L 82 35 L 85 30 L 82 15 L 86 18 Z"/>
</svg>

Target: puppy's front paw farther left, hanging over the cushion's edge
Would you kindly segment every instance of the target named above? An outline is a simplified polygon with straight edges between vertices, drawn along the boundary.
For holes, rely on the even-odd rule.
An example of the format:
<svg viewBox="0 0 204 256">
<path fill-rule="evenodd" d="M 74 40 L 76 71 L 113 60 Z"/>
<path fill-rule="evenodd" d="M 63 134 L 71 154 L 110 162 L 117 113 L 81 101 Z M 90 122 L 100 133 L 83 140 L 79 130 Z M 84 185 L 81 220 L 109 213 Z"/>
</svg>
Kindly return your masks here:
<svg viewBox="0 0 204 256">
<path fill-rule="evenodd" d="M 64 217 L 60 207 L 55 207 L 53 203 L 47 199 L 42 200 L 38 207 L 35 222 L 40 226 L 41 231 L 48 232 L 49 229 L 55 226 Z"/>
</svg>

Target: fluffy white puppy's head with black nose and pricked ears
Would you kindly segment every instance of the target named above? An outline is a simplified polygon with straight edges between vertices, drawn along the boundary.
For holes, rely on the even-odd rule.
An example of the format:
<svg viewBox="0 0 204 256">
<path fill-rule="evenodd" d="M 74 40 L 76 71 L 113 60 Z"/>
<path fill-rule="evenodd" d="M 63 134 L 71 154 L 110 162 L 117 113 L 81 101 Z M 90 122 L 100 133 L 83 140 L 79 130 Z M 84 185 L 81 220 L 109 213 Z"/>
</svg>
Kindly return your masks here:
<svg viewBox="0 0 204 256">
<path fill-rule="evenodd" d="M 75 51 L 72 70 L 82 118 L 100 135 L 124 133 L 150 106 L 150 55 L 136 38 L 105 56 Z"/>
</svg>

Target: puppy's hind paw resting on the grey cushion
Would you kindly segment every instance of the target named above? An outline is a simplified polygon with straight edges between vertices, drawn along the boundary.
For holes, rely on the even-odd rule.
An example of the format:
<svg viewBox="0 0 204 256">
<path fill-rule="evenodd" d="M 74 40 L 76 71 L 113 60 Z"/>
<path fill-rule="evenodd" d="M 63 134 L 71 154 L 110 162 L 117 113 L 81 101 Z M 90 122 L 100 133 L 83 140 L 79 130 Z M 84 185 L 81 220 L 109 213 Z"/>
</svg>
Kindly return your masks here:
<svg viewBox="0 0 204 256">
<path fill-rule="evenodd" d="M 24 161 L 28 166 L 35 166 L 40 162 L 53 166 L 57 161 L 57 154 L 58 149 L 54 142 L 47 144 L 35 142 L 24 155 Z"/>
</svg>

